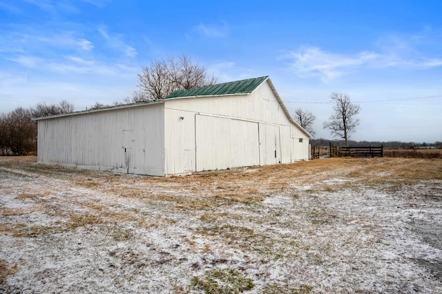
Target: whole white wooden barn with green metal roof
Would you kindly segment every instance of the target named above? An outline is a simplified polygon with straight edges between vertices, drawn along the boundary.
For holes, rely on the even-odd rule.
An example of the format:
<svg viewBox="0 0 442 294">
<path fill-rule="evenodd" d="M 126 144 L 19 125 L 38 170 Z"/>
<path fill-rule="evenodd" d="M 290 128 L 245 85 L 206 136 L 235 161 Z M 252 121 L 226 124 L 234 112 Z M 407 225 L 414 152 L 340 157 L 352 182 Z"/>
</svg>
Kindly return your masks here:
<svg viewBox="0 0 442 294">
<path fill-rule="evenodd" d="M 41 164 L 164 176 L 309 159 L 269 77 L 35 120 Z"/>
</svg>

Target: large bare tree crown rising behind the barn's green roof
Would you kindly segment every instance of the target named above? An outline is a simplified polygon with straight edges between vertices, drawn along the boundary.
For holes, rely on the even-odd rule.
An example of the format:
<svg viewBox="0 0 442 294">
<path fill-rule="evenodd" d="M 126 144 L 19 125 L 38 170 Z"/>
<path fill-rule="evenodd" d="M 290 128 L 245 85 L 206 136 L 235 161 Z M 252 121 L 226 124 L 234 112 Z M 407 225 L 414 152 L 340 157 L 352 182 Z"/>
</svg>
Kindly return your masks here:
<svg viewBox="0 0 442 294">
<path fill-rule="evenodd" d="M 187 55 L 169 57 L 166 61 L 155 60 L 144 66 L 138 74 L 138 88 L 133 102 L 163 99 L 175 90 L 198 88 L 216 83 L 207 68 L 195 63 Z M 143 100 L 140 100 L 143 99 Z"/>
</svg>

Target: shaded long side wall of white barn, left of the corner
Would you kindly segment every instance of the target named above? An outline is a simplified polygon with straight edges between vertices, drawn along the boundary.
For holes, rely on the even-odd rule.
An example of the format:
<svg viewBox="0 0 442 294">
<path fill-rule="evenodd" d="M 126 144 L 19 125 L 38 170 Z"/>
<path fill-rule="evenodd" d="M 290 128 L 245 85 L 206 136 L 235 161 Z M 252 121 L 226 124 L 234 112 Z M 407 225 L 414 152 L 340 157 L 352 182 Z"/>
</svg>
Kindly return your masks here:
<svg viewBox="0 0 442 294">
<path fill-rule="evenodd" d="M 38 161 L 164 175 L 164 104 L 38 121 Z"/>
</svg>

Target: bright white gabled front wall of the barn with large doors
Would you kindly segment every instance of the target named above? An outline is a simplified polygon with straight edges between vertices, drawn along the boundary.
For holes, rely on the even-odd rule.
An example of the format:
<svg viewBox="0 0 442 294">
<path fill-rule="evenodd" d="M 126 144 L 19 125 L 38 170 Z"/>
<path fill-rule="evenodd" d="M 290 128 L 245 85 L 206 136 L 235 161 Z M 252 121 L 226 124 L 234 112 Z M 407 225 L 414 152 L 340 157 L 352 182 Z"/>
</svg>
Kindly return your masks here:
<svg viewBox="0 0 442 294">
<path fill-rule="evenodd" d="M 164 103 L 168 130 L 166 173 L 186 173 L 191 171 L 190 166 L 193 166 L 193 171 L 199 171 L 309 159 L 309 138 L 289 121 L 267 82 L 250 95 L 170 99 Z M 212 118 L 195 120 L 195 115 Z M 244 124 L 238 121 L 244 121 Z M 245 124 L 246 121 L 256 126 Z M 253 135 L 241 133 L 242 130 L 253 129 L 256 129 Z M 252 146 L 238 146 L 235 149 L 229 141 L 232 137 L 234 141 L 238 141 L 255 134 L 259 141 L 258 159 L 251 151 Z M 207 141 L 198 137 L 206 137 Z M 249 142 L 254 140 L 247 139 Z M 197 141 L 200 146 L 195 148 Z M 242 153 L 242 150 L 249 152 Z M 191 153 L 195 156 L 189 159 Z M 206 163 L 201 165 L 203 158 Z"/>
</svg>

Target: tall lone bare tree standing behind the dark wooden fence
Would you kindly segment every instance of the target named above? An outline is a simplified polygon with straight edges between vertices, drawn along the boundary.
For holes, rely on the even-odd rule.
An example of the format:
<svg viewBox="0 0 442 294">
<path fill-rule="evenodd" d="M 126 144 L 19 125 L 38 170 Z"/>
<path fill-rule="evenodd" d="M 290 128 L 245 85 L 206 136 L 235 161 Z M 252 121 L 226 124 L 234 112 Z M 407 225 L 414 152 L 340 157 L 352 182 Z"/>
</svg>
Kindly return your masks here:
<svg viewBox="0 0 442 294">
<path fill-rule="evenodd" d="M 334 114 L 329 121 L 324 122 L 324 128 L 332 131 L 332 135 L 345 139 L 345 145 L 348 146 L 348 138 L 354 133 L 356 126 L 359 125 L 359 119 L 356 118 L 361 107 L 352 103 L 349 95 L 341 92 L 332 92 L 330 99 L 334 101 Z"/>
</svg>

